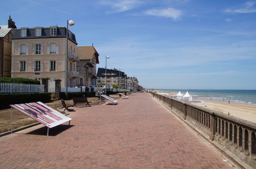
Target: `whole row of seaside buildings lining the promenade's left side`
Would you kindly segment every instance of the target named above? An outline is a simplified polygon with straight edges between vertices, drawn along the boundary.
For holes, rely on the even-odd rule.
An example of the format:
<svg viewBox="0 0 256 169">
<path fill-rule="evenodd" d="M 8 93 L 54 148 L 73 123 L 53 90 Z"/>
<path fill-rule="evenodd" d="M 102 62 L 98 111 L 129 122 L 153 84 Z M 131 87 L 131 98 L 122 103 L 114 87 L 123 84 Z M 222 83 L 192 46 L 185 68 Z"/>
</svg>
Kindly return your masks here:
<svg viewBox="0 0 256 169">
<path fill-rule="evenodd" d="M 62 88 L 99 84 L 137 90 L 139 81 L 117 69 L 99 68 L 99 53 L 92 46 L 77 47 L 76 36 L 66 27 L 17 28 L 11 16 L 0 26 L 0 76 L 48 79 L 55 92 L 55 80 Z M 107 73 L 105 73 L 107 71 Z"/>
</svg>

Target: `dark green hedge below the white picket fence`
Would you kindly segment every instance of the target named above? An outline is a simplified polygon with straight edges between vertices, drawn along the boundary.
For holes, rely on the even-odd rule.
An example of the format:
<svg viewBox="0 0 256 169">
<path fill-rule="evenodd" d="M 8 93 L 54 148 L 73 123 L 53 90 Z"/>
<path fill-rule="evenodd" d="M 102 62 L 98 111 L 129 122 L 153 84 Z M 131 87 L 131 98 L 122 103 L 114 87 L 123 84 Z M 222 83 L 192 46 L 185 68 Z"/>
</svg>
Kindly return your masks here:
<svg viewBox="0 0 256 169">
<path fill-rule="evenodd" d="M 9 105 L 31 103 L 41 101 L 42 103 L 51 102 L 51 93 L 19 93 L 19 94 L 0 94 L 0 109 L 8 109 Z"/>
</svg>

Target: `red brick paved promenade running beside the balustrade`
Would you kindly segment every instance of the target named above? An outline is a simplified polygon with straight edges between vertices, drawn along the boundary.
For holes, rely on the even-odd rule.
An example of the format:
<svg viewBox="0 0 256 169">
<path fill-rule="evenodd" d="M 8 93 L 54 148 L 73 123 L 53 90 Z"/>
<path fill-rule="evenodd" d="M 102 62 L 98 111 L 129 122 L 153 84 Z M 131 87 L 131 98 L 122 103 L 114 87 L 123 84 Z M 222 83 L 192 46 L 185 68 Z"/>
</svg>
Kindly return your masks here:
<svg viewBox="0 0 256 169">
<path fill-rule="evenodd" d="M 118 101 L 0 137 L 0 168 L 232 168 L 149 93 Z"/>
</svg>

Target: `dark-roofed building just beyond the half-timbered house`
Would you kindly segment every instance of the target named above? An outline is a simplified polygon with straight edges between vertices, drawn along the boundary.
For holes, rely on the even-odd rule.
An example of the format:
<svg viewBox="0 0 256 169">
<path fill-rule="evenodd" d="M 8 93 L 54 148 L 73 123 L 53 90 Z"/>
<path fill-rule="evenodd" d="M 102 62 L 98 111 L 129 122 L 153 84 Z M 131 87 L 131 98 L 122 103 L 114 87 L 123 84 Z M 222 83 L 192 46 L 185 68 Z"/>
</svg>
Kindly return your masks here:
<svg viewBox="0 0 256 169">
<path fill-rule="evenodd" d="M 107 85 L 117 85 L 119 89 L 126 89 L 127 75 L 117 69 L 99 68 L 97 71 L 97 85 L 105 84 L 105 71 L 107 70 Z"/>
</svg>

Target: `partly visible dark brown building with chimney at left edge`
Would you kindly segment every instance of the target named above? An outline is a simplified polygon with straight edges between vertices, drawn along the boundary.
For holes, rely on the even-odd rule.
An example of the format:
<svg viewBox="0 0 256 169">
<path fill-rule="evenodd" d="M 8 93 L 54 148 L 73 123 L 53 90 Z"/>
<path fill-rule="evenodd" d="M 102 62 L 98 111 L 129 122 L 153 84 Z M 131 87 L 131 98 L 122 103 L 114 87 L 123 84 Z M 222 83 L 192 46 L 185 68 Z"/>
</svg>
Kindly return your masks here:
<svg viewBox="0 0 256 169">
<path fill-rule="evenodd" d="M 8 25 L 0 25 L 0 77 L 11 77 L 12 36 L 15 28 L 11 16 Z"/>
</svg>

